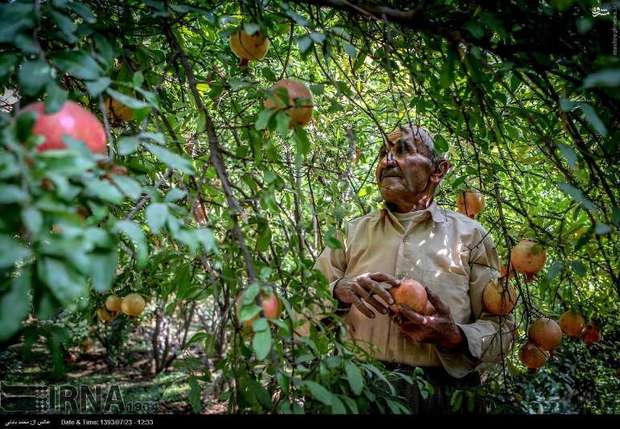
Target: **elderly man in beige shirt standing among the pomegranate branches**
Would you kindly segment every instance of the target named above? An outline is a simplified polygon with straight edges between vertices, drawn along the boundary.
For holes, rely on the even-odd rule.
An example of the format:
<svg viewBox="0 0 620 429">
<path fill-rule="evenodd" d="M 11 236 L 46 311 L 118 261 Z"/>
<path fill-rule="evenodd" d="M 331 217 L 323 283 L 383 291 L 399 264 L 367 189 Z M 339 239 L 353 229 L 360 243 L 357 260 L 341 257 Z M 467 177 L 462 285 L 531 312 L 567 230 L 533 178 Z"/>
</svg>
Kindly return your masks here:
<svg viewBox="0 0 620 429">
<path fill-rule="evenodd" d="M 485 286 L 499 276 L 491 238 L 478 222 L 433 200 L 448 168 L 427 130 L 401 128 L 376 169 L 383 209 L 348 222 L 344 248 L 325 249 L 316 263 L 353 340 L 388 368 L 424 369 L 431 397 L 399 386 L 421 413 L 449 412 L 450 388 L 479 384 L 478 370 L 498 362 L 513 340 L 512 319 L 491 316 L 482 304 Z M 426 287 L 434 314 L 394 307 L 388 290 L 406 278 Z"/>
</svg>

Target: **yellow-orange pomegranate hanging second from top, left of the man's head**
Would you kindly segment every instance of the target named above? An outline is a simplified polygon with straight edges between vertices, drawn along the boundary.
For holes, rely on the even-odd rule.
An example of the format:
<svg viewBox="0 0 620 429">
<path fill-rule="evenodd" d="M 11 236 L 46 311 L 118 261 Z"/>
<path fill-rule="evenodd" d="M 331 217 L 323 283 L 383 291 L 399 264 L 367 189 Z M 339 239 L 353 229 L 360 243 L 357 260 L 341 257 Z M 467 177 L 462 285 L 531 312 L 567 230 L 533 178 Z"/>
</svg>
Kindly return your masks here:
<svg viewBox="0 0 620 429">
<path fill-rule="evenodd" d="M 282 99 L 275 93 L 278 88 L 288 91 L 288 103 L 285 106 Z M 270 95 L 264 102 L 267 109 L 285 109 L 291 118 L 290 128 L 305 126 L 312 119 L 312 94 L 301 82 L 290 79 L 279 80 L 270 90 Z"/>
</svg>

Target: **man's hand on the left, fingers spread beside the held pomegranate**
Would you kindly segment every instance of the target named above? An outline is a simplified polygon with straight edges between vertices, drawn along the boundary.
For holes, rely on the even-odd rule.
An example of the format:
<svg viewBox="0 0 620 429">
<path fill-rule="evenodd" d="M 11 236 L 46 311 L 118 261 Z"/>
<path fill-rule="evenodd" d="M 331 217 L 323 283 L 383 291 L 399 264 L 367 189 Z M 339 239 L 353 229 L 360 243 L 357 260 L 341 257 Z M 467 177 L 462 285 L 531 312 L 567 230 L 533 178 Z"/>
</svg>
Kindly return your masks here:
<svg viewBox="0 0 620 429">
<path fill-rule="evenodd" d="M 344 277 L 334 288 L 334 297 L 343 304 L 354 305 L 362 314 L 374 319 L 375 313 L 367 306 L 372 305 L 381 314 L 387 314 L 388 308 L 373 295 L 378 295 L 388 305 L 394 299 L 388 289 L 398 286 L 399 281 L 385 273 L 365 273 L 356 277 Z"/>
</svg>

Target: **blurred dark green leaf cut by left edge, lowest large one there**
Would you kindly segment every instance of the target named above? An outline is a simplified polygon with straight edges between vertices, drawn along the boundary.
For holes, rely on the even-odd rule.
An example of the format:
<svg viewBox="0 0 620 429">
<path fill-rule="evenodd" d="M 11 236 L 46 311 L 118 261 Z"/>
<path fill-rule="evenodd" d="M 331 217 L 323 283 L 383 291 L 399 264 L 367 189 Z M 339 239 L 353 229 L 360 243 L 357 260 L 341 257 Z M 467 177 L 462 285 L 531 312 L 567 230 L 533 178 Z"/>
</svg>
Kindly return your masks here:
<svg viewBox="0 0 620 429">
<path fill-rule="evenodd" d="M 0 257 L 1 259 L 1 257 Z M 0 343 L 11 338 L 21 328 L 22 321 L 30 313 L 30 268 L 11 281 L 8 291 L 0 294 Z"/>
</svg>

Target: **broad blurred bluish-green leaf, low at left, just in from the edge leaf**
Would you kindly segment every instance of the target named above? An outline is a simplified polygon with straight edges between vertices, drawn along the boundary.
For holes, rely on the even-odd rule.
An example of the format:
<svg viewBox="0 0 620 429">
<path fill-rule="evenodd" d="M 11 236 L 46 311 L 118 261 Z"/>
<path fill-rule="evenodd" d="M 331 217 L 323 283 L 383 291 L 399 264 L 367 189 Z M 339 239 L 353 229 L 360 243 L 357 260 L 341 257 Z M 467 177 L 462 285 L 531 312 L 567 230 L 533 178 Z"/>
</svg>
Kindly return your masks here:
<svg viewBox="0 0 620 429">
<path fill-rule="evenodd" d="M 59 259 L 44 257 L 37 263 L 37 273 L 56 299 L 65 305 L 86 294 L 84 277 Z"/>
</svg>

